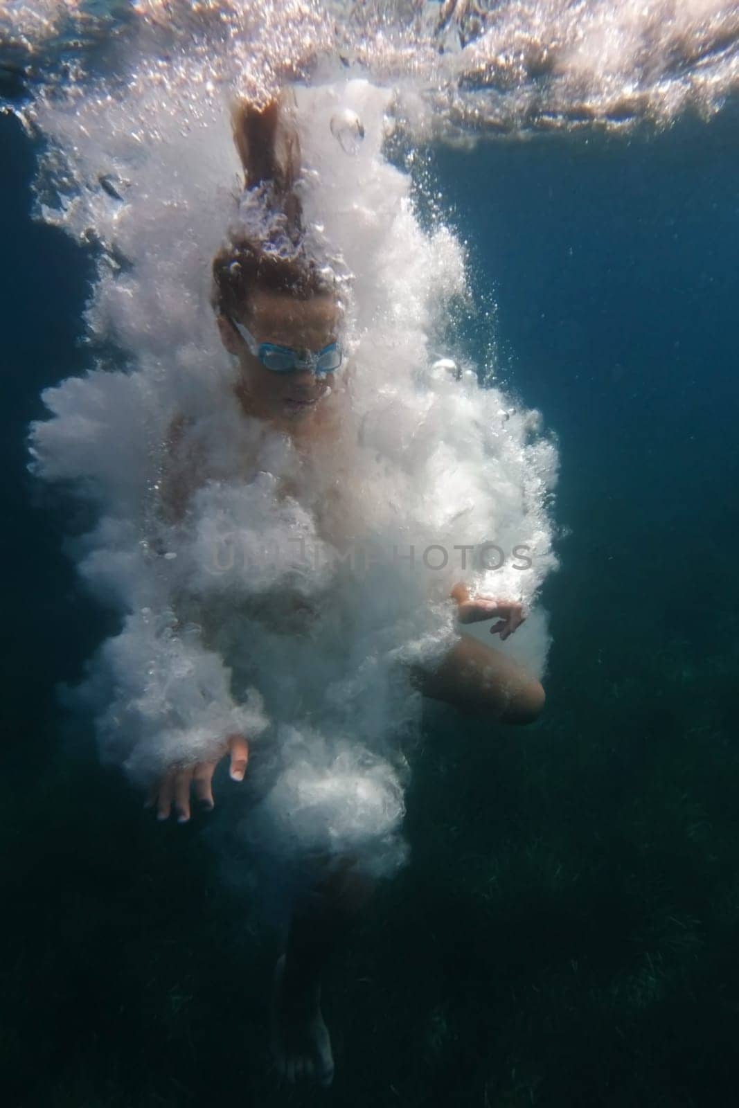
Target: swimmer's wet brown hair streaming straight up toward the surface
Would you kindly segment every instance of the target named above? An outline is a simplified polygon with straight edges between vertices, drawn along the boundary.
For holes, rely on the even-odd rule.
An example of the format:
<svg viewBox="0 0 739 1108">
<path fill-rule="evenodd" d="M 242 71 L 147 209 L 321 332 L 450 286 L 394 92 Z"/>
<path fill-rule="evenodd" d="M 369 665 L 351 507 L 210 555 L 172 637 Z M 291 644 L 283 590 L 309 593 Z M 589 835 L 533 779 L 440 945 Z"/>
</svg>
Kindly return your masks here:
<svg viewBox="0 0 739 1108">
<path fill-rule="evenodd" d="M 258 189 L 260 202 L 278 232 L 255 237 L 232 230 L 213 259 L 212 302 L 216 315 L 238 318 L 248 310 L 250 295 L 259 289 L 286 293 L 297 299 L 330 295 L 335 286 L 305 249 L 302 211 L 296 184 L 300 174 L 300 142 L 285 98 L 257 107 L 239 101 L 232 113 L 234 142 L 244 168 L 244 189 Z M 277 253 L 274 236 L 290 250 Z"/>
</svg>

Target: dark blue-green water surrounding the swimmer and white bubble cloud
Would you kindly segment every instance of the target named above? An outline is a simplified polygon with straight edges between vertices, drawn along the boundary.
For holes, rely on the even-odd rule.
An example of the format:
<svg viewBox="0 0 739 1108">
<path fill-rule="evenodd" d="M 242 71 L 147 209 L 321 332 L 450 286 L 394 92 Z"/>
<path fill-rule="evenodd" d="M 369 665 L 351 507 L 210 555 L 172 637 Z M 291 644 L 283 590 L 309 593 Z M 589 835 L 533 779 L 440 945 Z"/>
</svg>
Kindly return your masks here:
<svg viewBox="0 0 739 1108">
<path fill-rule="evenodd" d="M 567 534 L 544 719 L 429 721 L 413 864 L 332 974 L 336 1104 L 733 1102 L 736 134 L 729 107 L 431 154 L 497 305 L 499 373 L 558 437 Z M 152 827 L 55 706 L 106 617 L 61 553 L 80 509 L 33 486 L 23 440 L 84 365 L 91 267 L 31 223 L 8 117 L 0 150 L 10 1102 L 283 1102 L 269 937 L 199 829 Z"/>
</svg>

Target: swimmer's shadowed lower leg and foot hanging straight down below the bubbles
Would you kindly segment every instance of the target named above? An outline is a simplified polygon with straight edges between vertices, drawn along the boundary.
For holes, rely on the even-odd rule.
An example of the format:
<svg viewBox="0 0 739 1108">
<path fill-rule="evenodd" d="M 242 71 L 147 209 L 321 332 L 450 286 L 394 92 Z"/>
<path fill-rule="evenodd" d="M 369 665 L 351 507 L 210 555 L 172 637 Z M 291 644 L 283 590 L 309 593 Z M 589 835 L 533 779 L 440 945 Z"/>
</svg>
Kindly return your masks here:
<svg viewBox="0 0 739 1108">
<path fill-rule="evenodd" d="M 271 1044 L 289 1081 L 333 1079 L 333 1056 L 320 1009 L 324 968 L 369 903 L 374 881 L 353 859 L 319 859 L 316 876 L 292 912 L 285 954 L 275 968 Z"/>
</svg>

